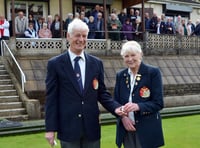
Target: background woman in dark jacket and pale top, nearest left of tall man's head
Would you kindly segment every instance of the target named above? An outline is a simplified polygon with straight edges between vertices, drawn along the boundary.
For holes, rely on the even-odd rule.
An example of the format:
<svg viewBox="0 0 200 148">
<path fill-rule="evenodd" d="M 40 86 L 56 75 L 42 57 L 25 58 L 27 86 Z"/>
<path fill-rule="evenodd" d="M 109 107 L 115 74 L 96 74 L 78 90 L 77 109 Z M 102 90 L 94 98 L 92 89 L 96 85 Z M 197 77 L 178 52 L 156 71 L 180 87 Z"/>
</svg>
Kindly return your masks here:
<svg viewBox="0 0 200 148">
<path fill-rule="evenodd" d="M 61 38 L 61 23 L 60 16 L 56 14 L 50 29 L 52 38 Z"/>
</svg>

